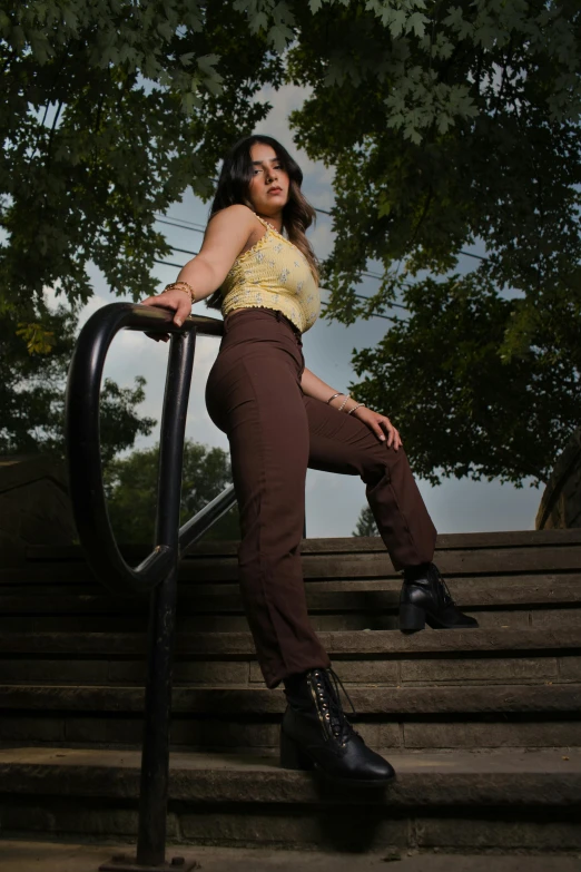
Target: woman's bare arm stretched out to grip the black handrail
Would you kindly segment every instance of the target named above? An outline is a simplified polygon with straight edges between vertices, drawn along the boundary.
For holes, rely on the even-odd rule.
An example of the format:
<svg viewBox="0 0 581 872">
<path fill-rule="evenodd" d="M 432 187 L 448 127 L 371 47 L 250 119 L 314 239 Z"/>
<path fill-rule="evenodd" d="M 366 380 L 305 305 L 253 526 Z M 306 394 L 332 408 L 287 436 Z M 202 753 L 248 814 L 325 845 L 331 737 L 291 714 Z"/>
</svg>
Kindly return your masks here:
<svg viewBox="0 0 581 872">
<path fill-rule="evenodd" d="M 191 303 L 204 300 L 226 278 L 233 263 L 256 232 L 256 218 L 247 206 L 228 206 L 209 222 L 198 255 L 180 270 L 177 281 L 187 282 L 194 291 L 188 300 L 183 291 L 168 291 L 142 301 L 145 306 L 160 306 L 175 312 L 180 326 L 191 312 Z"/>
</svg>

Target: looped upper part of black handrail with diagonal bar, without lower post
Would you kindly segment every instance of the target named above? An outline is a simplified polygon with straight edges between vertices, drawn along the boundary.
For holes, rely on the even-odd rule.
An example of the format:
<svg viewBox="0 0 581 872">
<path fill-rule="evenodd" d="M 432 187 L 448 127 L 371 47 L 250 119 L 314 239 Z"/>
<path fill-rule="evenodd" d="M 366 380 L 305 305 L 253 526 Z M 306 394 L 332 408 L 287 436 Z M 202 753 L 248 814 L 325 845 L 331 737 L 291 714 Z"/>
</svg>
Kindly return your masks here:
<svg viewBox="0 0 581 872">
<path fill-rule="evenodd" d="M 115 540 L 102 481 L 99 399 L 105 359 L 115 335 L 124 329 L 171 333 L 161 421 L 156 547 L 135 569 Z M 98 310 L 79 335 L 67 388 L 67 454 L 70 496 L 79 539 L 91 568 L 114 592 L 151 590 L 170 566 L 174 549 L 181 555 L 236 501 L 230 487 L 191 518 L 174 541 L 179 518 L 181 458 L 196 334 L 220 336 L 217 319 L 191 315 L 183 327 L 160 308 L 111 303 Z"/>
</svg>

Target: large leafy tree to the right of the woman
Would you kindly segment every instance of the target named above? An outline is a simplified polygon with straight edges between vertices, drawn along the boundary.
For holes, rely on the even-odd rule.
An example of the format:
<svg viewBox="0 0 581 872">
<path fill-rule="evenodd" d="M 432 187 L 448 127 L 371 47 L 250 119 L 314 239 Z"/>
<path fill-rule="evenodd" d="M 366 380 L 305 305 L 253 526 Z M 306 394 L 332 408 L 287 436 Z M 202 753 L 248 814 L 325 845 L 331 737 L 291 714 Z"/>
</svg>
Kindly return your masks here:
<svg viewBox="0 0 581 872">
<path fill-rule="evenodd" d="M 433 482 L 545 480 L 581 408 L 581 9 L 317 9 L 289 69 L 312 89 L 297 140 L 335 167 L 327 315 L 393 322 L 351 390 Z M 370 258 L 383 281 L 362 301 Z"/>
</svg>

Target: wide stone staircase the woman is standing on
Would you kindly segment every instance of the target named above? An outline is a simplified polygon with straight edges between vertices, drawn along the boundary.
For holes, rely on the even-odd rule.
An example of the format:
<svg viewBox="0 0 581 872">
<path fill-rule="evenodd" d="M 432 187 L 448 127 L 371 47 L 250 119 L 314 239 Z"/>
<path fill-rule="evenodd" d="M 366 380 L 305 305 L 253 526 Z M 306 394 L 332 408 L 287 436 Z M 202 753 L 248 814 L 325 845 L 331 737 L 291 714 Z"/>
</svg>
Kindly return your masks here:
<svg viewBox="0 0 581 872">
<path fill-rule="evenodd" d="M 380 539 L 304 543 L 313 623 L 397 772 L 378 791 L 278 768 L 284 696 L 262 683 L 235 553 L 213 542 L 181 564 L 171 842 L 579 853 L 581 530 L 441 536 L 481 627 L 414 635 Z M 47 547 L 0 571 L 0 597 L 1 834 L 134 842 L 147 599 Z"/>
</svg>

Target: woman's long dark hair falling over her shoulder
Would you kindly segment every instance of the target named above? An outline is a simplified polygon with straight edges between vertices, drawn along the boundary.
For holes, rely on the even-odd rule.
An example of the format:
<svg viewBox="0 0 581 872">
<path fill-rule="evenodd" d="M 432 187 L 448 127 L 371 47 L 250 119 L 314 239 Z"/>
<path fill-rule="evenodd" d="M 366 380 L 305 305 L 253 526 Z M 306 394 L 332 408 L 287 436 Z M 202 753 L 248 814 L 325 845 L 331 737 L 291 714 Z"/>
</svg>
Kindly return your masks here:
<svg viewBox="0 0 581 872">
<path fill-rule="evenodd" d="M 306 237 L 306 231 L 315 219 L 315 209 L 306 200 L 301 185 L 303 184 L 303 172 L 296 160 L 294 160 L 286 148 L 272 136 L 262 136 L 254 134 L 240 139 L 232 148 L 224 159 L 218 187 L 214 203 L 211 204 L 209 217 L 216 215 L 220 209 L 235 204 L 248 206 L 254 212 L 250 197 L 248 195 L 250 179 L 253 178 L 253 159 L 250 148 L 255 143 L 268 145 L 275 151 L 276 157 L 288 174 L 288 203 L 283 208 L 283 227 L 289 241 L 303 252 L 313 273 L 315 282 L 318 284 L 318 266 L 315 253 Z M 207 300 L 206 305 L 209 308 L 220 308 L 221 291 L 215 291 Z"/>
</svg>

